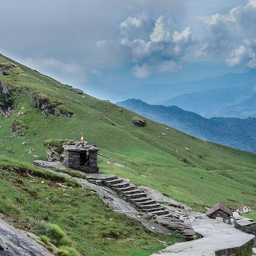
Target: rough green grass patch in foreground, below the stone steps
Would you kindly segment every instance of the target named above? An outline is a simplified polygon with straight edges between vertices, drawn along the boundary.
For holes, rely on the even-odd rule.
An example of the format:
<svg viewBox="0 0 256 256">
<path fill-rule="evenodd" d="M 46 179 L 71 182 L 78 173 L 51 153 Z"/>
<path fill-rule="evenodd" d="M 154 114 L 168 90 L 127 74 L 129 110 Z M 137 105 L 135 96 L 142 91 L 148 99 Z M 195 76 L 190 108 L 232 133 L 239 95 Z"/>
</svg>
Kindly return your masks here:
<svg viewBox="0 0 256 256">
<path fill-rule="evenodd" d="M 91 189 L 6 170 L 0 170 L 0 212 L 40 235 L 45 247 L 51 247 L 48 242 L 57 246 L 58 255 L 150 255 L 163 248 L 158 240 L 183 241 L 177 235 L 151 234 L 105 207 Z"/>
</svg>

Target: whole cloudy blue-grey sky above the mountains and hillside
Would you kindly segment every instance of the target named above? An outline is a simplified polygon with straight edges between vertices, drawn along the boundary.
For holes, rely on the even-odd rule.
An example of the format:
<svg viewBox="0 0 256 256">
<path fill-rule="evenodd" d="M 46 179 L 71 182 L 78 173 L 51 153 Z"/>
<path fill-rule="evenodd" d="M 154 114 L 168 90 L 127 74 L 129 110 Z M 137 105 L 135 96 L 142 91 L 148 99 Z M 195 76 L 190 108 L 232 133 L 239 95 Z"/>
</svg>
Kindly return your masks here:
<svg viewBox="0 0 256 256">
<path fill-rule="evenodd" d="M 0 0 L 0 27 L 2 54 L 114 102 L 256 68 L 256 0 Z"/>
</svg>

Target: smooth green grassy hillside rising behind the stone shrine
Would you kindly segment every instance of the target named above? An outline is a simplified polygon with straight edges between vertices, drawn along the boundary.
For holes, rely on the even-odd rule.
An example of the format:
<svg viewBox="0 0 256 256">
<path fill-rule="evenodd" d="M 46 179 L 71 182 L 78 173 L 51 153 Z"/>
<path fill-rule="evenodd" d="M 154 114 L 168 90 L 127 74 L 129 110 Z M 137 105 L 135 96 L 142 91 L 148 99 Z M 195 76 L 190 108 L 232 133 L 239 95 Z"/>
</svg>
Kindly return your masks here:
<svg viewBox="0 0 256 256">
<path fill-rule="evenodd" d="M 18 96 L 13 92 L 13 116 L 28 129 L 24 136 L 17 136 L 9 129 L 13 117 L 0 117 L 2 154 L 27 162 L 45 160 L 44 140 L 79 139 L 83 131 L 85 139 L 100 147 L 101 153 L 127 166 L 108 165 L 107 158 L 99 157 L 100 172 L 118 174 L 134 183 L 155 187 L 200 209 L 201 205 L 211 206 L 217 202 L 233 208 L 239 204 L 256 204 L 255 154 L 202 141 L 110 102 L 77 94 L 68 86 L 0 55 L 0 64 L 6 61 L 20 69 L 1 75 L 0 80 L 19 88 Z M 40 91 L 52 105 L 60 102 L 57 110 L 72 111 L 73 116 L 45 116 L 31 106 L 22 86 Z M 21 110 L 27 113 L 17 115 Z M 148 126 L 137 127 L 132 118 L 143 118 Z M 199 179 L 201 175 L 203 179 Z"/>
</svg>

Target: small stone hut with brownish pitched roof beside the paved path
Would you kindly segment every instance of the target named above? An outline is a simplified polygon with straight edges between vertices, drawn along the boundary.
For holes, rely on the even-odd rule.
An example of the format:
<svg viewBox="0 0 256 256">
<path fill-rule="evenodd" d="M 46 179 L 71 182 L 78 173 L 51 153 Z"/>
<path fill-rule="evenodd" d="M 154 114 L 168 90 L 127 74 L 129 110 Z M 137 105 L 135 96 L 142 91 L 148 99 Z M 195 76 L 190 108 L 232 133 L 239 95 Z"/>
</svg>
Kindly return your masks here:
<svg viewBox="0 0 256 256">
<path fill-rule="evenodd" d="M 205 215 L 209 218 L 222 218 L 225 223 L 230 223 L 230 216 L 233 216 L 233 211 L 228 207 L 217 203 L 213 207 L 209 208 Z"/>
</svg>

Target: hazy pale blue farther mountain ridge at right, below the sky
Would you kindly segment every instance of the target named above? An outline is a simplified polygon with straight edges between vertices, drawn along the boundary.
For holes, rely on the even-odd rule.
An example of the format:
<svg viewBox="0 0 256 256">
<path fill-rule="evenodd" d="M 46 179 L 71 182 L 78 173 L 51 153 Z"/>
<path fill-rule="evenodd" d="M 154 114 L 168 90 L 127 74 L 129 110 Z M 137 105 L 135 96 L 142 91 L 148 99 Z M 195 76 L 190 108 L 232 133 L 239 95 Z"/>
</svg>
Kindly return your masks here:
<svg viewBox="0 0 256 256">
<path fill-rule="evenodd" d="M 256 116 L 255 86 L 255 82 L 249 82 L 240 87 L 185 93 L 157 104 L 176 105 L 204 117 L 246 118 Z"/>
</svg>

